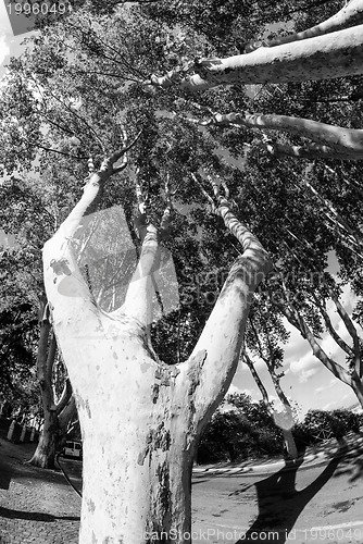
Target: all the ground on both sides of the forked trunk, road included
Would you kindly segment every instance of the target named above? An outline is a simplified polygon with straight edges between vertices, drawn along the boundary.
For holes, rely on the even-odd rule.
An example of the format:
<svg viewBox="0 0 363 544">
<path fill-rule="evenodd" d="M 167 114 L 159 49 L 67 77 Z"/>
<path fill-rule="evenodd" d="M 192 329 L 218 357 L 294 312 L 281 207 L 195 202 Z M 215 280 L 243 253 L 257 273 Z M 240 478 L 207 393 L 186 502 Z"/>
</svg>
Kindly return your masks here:
<svg viewBox="0 0 363 544">
<path fill-rule="evenodd" d="M 281 459 L 196 467 L 193 544 L 362 544 L 363 435 L 347 445 L 337 455 L 337 442 L 327 442 L 287 468 Z M 80 498 L 59 469 L 26 463 L 34 448 L 0 438 L 0 544 L 77 544 Z M 62 462 L 80 489 L 82 463 Z M 278 540 L 266 539 L 266 523 Z M 251 540 L 240 541 L 248 530 Z"/>
</svg>

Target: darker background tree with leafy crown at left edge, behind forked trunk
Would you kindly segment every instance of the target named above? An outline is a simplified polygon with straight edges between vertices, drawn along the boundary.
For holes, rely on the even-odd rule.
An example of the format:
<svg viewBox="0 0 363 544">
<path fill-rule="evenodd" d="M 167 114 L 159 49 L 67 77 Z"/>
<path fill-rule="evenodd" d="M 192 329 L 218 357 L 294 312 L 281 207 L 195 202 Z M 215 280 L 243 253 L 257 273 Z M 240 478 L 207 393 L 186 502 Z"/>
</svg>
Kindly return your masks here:
<svg viewBox="0 0 363 544">
<path fill-rule="evenodd" d="M 65 433 L 70 420 L 75 417 L 75 404 L 74 400 L 71 401 L 72 387 L 66 380 L 66 373 L 61 371 L 55 375 L 54 372 L 57 344 L 54 338 L 51 338 L 49 311 L 46 311 L 47 300 L 42 294 L 40 247 L 47 232 L 52 232 L 54 220 L 57 222 L 57 213 L 53 215 L 48 211 L 50 205 L 49 209 L 55 212 L 57 201 L 47 201 L 46 191 L 40 196 L 34 190 L 32 183 L 29 185 L 24 180 L 13 178 L 5 182 L 0 189 L 5 202 L 1 208 L 1 222 L 10 233 L 15 233 L 10 234 L 13 236 L 13 247 L 8 248 L 2 257 L 3 304 L 8 300 L 14 306 L 17 304 L 12 310 L 16 310 L 16 317 L 12 316 L 10 319 L 9 312 L 3 312 L 3 319 L 7 318 L 10 323 L 7 327 L 1 327 L 4 335 L 2 358 L 9 373 L 14 358 L 12 354 L 16 353 L 18 370 L 9 376 L 8 391 L 18 391 L 20 385 L 24 385 L 27 380 L 30 390 L 27 392 L 28 401 L 24 399 L 23 386 L 18 392 L 22 411 L 26 412 L 27 405 L 36 397 L 37 401 L 32 408 L 37 411 L 39 418 L 43 418 L 40 440 L 29 462 L 42 468 L 53 468 L 60 435 Z M 32 350 L 28 347 L 30 338 Z M 30 372 L 27 368 L 29 363 Z M 22 380 L 18 380 L 17 373 Z M 37 387 L 40 390 L 40 400 L 34 393 Z M 59 403 L 55 401 L 57 398 Z"/>
</svg>

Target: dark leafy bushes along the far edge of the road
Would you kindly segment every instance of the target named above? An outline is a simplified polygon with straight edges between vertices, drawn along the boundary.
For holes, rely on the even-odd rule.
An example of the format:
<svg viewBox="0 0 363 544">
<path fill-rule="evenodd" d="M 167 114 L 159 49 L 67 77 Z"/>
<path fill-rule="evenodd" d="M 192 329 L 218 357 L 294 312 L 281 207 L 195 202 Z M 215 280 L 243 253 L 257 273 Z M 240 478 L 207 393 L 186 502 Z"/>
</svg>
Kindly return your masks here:
<svg viewBox="0 0 363 544">
<path fill-rule="evenodd" d="M 246 394 L 227 397 L 201 438 L 197 462 L 238 462 L 254 457 L 281 456 L 284 440 L 263 403 L 252 403 Z M 299 453 L 329 438 L 341 440 L 349 432 L 358 433 L 362 416 L 350 410 L 310 410 L 304 420 L 292 429 Z"/>
</svg>

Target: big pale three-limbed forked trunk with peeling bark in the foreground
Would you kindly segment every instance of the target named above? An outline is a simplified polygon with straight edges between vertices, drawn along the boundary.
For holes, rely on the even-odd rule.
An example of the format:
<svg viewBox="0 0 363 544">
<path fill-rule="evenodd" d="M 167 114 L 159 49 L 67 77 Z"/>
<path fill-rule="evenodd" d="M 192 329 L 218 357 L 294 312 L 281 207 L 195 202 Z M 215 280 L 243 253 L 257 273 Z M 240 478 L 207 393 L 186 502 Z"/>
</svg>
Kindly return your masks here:
<svg viewBox="0 0 363 544">
<path fill-rule="evenodd" d="M 201 431 L 238 363 L 253 292 L 270 270 L 260 243 L 220 206 L 243 246 L 191 357 L 166 366 L 149 348 L 158 234 L 149 225 L 124 306 L 98 309 L 70 239 L 111 175 L 110 161 L 43 249 L 53 326 L 72 381 L 84 443 L 80 544 L 187 544 L 191 467 Z"/>
</svg>

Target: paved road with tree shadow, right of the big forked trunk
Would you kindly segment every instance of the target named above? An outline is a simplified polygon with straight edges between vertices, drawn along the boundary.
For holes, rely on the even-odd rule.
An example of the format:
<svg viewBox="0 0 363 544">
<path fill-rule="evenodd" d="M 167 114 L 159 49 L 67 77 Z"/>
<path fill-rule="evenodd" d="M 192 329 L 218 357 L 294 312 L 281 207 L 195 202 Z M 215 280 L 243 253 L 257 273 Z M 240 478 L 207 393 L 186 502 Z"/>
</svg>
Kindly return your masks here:
<svg viewBox="0 0 363 544">
<path fill-rule="evenodd" d="M 343 452 L 341 452 L 343 453 Z M 320 465 L 193 478 L 193 544 L 363 543 L 362 447 Z"/>
</svg>

